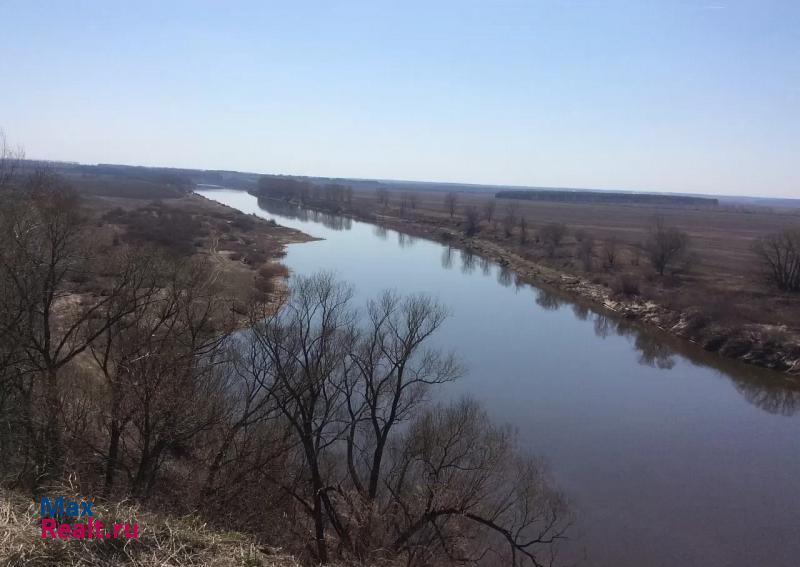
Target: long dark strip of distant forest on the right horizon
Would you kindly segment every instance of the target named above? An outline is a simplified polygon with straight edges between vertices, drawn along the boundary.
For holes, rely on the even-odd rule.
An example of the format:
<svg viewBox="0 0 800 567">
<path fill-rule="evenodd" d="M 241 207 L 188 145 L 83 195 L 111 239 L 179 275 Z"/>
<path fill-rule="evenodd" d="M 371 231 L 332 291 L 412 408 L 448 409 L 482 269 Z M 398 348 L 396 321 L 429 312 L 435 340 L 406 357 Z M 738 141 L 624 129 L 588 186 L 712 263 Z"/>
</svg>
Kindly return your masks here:
<svg viewBox="0 0 800 567">
<path fill-rule="evenodd" d="M 498 191 L 498 199 L 522 199 L 524 201 L 555 201 L 563 203 L 623 203 L 629 205 L 702 205 L 716 207 L 717 199 L 711 197 L 689 197 L 686 195 L 658 195 L 655 193 L 615 193 L 611 191 Z"/>
</svg>

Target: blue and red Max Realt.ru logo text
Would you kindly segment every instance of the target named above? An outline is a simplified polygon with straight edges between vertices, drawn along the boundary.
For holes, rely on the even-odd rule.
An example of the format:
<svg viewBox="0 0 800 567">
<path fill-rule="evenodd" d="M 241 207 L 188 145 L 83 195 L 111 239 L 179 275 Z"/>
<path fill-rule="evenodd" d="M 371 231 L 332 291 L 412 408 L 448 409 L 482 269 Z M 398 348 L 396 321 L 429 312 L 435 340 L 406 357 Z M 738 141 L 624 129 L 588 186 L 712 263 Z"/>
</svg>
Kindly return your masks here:
<svg viewBox="0 0 800 567">
<path fill-rule="evenodd" d="M 139 537 L 139 524 L 111 524 L 94 518 L 93 502 L 66 500 L 59 496 L 52 501 L 42 496 L 39 515 L 42 518 L 42 539 L 108 539 Z M 77 520 L 77 521 L 76 521 Z"/>
</svg>

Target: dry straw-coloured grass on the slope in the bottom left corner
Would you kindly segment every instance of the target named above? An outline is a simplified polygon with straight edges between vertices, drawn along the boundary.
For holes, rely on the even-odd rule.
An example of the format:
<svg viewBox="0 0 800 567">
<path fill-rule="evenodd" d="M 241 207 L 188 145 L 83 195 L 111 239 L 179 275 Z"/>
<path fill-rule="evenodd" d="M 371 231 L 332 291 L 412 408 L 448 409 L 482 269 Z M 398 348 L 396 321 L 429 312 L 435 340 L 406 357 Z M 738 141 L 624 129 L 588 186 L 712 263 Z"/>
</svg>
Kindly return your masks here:
<svg viewBox="0 0 800 567">
<path fill-rule="evenodd" d="M 102 505 L 95 502 L 93 512 L 95 518 L 106 526 L 115 521 L 138 522 L 139 538 L 42 539 L 38 503 L 15 492 L 0 489 L 0 565 L 300 565 L 292 557 L 260 547 L 244 535 L 213 530 L 194 517 L 162 517 L 129 503 Z"/>
</svg>

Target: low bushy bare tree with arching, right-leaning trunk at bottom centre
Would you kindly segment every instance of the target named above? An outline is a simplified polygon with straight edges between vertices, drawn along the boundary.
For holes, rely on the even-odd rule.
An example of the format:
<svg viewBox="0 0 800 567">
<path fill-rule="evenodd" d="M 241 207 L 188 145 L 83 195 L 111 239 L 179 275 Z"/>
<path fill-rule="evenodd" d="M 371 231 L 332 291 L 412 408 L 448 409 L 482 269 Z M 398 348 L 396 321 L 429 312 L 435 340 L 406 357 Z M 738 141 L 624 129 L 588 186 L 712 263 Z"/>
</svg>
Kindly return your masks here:
<svg viewBox="0 0 800 567">
<path fill-rule="evenodd" d="M 551 564 L 571 515 L 540 463 L 473 401 L 426 412 L 398 447 L 387 480 L 398 513 L 391 547 L 408 564 Z"/>
</svg>

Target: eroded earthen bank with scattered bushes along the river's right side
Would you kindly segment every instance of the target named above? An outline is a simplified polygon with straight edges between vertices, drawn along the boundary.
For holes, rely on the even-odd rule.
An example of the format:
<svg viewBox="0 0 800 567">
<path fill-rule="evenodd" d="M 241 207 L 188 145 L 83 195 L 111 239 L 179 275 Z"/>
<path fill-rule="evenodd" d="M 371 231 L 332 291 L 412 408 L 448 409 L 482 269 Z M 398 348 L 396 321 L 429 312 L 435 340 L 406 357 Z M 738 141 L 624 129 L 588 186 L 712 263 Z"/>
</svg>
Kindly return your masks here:
<svg viewBox="0 0 800 567">
<path fill-rule="evenodd" d="M 713 312 L 703 309 L 702 304 L 674 309 L 638 293 L 626 295 L 614 289 L 608 278 L 579 274 L 525 258 L 511 246 L 484 238 L 480 233 L 467 237 L 458 221 L 449 223 L 439 217 L 408 211 L 401 216 L 389 208 L 373 211 L 343 203 L 334 206 L 304 203 L 303 206 L 468 250 L 509 269 L 522 282 L 554 288 L 588 300 L 619 317 L 640 321 L 722 357 L 800 376 L 800 336 L 785 325 L 730 325 L 716 319 Z"/>
</svg>

